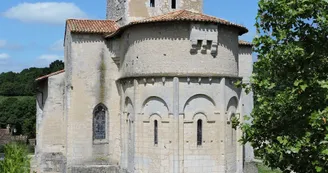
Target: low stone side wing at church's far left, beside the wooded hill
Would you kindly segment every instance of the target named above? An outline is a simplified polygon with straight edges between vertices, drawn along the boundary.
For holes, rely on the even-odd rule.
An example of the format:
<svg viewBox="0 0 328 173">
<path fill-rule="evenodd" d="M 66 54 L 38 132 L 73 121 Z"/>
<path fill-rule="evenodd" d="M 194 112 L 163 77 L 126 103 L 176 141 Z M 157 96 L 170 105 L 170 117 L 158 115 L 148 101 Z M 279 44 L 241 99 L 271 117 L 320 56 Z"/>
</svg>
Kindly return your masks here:
<svg viewBox="0 0 328 173">
<path fill-rule="evenodd" d="M 66 169 L 63 99 L 64 73 L 39 83 L 35 155 L 40 172 L 63 172 Z"/>
</svg>

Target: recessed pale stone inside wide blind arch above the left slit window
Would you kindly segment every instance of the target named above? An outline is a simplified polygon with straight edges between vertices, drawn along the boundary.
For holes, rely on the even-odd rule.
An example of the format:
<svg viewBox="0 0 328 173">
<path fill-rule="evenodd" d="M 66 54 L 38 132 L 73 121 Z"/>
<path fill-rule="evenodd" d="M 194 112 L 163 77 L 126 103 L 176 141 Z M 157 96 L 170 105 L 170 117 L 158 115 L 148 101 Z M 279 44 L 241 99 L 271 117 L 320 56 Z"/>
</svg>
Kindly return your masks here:
<svg viewBox="0 0 328 173">
<path fill-rule="evenodd" d="M 160 97 L 148 97 L 142 104 L 142 113 L 150 118 L 153 115 L 159 115 L 161 118 L 168 116 L 169 108 L 167 103 Z"/>
</svg>

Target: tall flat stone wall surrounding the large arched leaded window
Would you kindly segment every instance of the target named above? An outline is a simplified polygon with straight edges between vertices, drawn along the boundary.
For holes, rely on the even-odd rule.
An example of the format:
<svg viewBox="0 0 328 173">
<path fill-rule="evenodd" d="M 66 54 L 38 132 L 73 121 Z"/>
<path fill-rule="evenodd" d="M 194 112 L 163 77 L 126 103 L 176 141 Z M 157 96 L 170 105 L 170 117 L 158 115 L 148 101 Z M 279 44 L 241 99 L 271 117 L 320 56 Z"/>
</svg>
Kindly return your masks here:
<svg viewBox="0 0 328 173">
<path fill-rule="evenodd" d="M 100 35 L 72 34 L 66 110 L 68 168 L 120 162 L 118 69 L 109 47 Z M 108 130 L 101 142 L 93 140 L 93 111 L 99 103 L 108 110 Z"/>
</svg>

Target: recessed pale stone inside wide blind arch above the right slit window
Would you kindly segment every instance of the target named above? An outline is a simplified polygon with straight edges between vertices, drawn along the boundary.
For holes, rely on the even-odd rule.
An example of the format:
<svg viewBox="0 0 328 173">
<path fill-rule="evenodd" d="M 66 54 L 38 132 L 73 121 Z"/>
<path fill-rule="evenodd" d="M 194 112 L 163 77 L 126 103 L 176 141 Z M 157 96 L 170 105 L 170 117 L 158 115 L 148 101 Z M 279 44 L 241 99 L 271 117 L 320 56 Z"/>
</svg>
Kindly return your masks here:
<svg viewBox="0 0 328 173">
<path fill-rule="evenodd" d="M 214 116 L 215 102 L 214 100 L 205 94 L 196 94 L 190 97 L 183 106 L 183 113 L 185 119 L 192 121 L 195 115 L 199 113 L 205 115 L 205 117 L 210 119 Z"/>
</svg>

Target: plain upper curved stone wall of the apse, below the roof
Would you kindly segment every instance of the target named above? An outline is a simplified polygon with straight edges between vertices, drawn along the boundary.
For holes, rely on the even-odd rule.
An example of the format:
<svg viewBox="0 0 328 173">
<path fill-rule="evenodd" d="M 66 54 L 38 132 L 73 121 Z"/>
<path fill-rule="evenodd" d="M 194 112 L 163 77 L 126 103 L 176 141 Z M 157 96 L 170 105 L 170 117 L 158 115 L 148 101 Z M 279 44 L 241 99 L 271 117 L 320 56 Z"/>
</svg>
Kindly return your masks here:
<svg viewBox="0 0 328 173">
<path fill-rule="evenodd" d="M 121 77 L 141 76 L 238 76 L 238 32 L 210 25 L 190 32 L 194 24 L 145 24 L 122 35 Z M 204 28 L 206 24 L 198 24 Z M 206 37 L 206 34 L 208 37 Z M 193 48 L 193 41 L 216 44 L 218 53 Z M 206 42 L 207 44 L 207 42 Z"/>
</svg>

